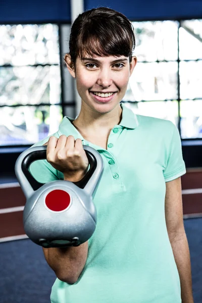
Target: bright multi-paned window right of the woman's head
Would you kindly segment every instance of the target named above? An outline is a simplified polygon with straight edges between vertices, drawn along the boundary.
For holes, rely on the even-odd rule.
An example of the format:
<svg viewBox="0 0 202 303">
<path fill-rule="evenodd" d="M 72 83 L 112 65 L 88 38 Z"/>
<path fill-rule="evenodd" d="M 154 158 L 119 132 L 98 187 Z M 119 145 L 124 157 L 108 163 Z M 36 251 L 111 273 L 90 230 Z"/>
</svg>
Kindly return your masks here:
<svg viewBox="0 0 202 303">
<path fill-rule="evenodd" d="M 202 20 L 133 22 L 138 63 L 124 101 L 136 114 L 172 121 L 202 138 Z"/>
</svg>

